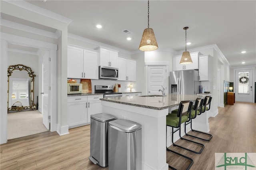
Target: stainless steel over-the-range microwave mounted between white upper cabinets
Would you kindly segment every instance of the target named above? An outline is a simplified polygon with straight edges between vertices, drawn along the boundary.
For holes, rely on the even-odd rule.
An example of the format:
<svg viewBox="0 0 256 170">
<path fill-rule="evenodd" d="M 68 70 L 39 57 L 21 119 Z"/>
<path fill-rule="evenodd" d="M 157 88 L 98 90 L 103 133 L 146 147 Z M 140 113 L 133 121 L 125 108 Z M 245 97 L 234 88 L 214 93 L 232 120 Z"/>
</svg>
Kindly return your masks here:
<svg viewBox="0 0 256 170">
<path fill-rule="evenodd" d="M 99 66 L 99 79 L 118 79 L 118 68 Z"/>
</svg>

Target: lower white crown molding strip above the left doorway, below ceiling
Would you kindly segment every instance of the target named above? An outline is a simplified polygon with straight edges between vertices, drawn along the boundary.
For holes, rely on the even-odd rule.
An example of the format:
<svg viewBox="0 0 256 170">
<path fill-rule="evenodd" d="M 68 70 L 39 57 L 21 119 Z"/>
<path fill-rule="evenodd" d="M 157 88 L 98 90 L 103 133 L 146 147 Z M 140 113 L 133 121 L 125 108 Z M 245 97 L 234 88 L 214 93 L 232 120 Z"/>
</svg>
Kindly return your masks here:
<svg viewBox="0 0 256 170">
<path fill-rule="evenodd" d="M 22 24 L 18 24 L 16 22 L 3 20 L 3 19 L 1 19 L 1 26 L 5 26 L 5 27 L 8 27 L 8 28 L 13 28 L 13 29 L 16 29 L 16 30 L 21 30 L 21 31 L 24 31 L 24 32 L 30 32 L 32 34 L 37 34 L 37 35 L 40 35 L 40 36 L 45 36 L 45 37 L 54 38 L 54 39 L 58 39 L 60 37 L 60 34 L 58 33 L 58 30 L 55 33 L 52 33 L 52 32 L 40 30 L 38 28 L 25 26 L 25 25 L 22 25 Z"/>
</svg>

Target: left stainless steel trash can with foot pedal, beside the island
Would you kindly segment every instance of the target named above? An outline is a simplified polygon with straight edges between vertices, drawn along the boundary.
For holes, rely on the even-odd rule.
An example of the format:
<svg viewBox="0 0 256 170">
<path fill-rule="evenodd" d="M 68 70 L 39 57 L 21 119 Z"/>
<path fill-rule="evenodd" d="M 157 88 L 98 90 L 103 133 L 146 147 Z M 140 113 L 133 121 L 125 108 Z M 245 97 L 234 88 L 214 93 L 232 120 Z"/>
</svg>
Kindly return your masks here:
<svg viewBox="0 0 256 170">
<path fill-rule="evenodd" d="M 115 119 L 106 113 L 91 115 L 89 159 L 101 167 L 108 166 L 108 122 Z"/>
</svg>

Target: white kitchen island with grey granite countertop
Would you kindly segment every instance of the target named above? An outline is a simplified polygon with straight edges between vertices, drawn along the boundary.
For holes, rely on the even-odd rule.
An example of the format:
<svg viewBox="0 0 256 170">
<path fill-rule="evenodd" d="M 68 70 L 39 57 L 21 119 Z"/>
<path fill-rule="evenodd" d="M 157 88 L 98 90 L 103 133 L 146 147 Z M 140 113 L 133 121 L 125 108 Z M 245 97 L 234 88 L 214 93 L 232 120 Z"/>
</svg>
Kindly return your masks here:
<svg viewBox="0 0 256 170">
<path fill-rule="evenodd" d="M 142 125 L 142 170 L 168 170 L 166 163 L 166 115 L 176 109 L 180 101 L 198 95 L 167 94 L 128 96 L 100 99 L 103 113 Z M 202 124 L 206 124 L 202 122 Z M 200 130 L 200 129 L 199 129 Z M 205 131 L 205 130 L 204 130 Z M 169 131 L 170 132 L 170 131 Z M 168 138 L 170 143 L 170 138 Z"/>
</svg>

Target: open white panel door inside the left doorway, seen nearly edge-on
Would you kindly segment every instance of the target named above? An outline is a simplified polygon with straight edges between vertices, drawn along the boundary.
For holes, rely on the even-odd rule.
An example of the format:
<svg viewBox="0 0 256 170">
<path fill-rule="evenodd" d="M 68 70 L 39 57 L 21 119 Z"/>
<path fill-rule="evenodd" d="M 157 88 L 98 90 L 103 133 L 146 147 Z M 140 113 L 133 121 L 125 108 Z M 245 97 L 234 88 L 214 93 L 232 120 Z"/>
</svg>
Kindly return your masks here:
<svg viewBox="0 0 256 170">
<path fill-rule="evenodd" d="M 47 52 L 43 57 L 43 85 L 42 85 L 42 114 L 43 114 L 43 124 L 49 130 L 50 129 L 50 119 L 48 116 L 50 115 L 50 61 L 49 61 L 49 53 Z"/>
</svg>

